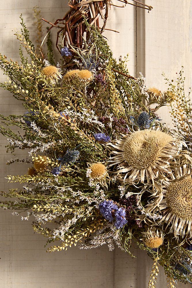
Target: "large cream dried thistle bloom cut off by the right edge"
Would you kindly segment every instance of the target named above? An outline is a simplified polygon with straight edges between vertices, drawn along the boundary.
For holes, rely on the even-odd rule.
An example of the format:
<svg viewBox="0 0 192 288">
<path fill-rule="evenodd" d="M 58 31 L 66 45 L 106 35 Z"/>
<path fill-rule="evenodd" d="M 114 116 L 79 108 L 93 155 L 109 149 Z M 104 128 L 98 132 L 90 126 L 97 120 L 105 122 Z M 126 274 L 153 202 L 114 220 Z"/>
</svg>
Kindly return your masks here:
<svg viewBox="0 0 192 288">
<path fill-rule="evenodd" d="M 187 157 L 189 159 L 189 157 Z M 189 159 L 190 160 L 190 159 Z M 191 161 L 191 160 L 190 160 Z M 176 162 L 172 181 L 164 181 L 161 191 L 153 196 L 155 199 L 148 205 L 148 211 L 160 211 L 163 215 L 159 223 L 166 223 L 174 236 L 192 236 L 192 179 L 190 166 L 181 166 Z M 175 179 L 175 177 L 177 177 Z"/>
</svg>

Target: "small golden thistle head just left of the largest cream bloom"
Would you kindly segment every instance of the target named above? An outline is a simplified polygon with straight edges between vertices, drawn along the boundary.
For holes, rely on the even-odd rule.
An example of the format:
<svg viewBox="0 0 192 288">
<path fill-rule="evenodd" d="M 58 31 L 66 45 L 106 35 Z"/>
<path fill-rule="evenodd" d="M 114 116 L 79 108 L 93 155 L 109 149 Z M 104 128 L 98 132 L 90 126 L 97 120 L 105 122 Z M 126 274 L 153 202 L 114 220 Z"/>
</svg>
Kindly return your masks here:
<svg viewBox="0 0 192 288">
<path fill-rule="evenodd" d="M 91 164 L 87 169 L 87 177 L 93 180 L 103 180 L 107 175 L 107 168 L 101 163 Z"/>
</svg>

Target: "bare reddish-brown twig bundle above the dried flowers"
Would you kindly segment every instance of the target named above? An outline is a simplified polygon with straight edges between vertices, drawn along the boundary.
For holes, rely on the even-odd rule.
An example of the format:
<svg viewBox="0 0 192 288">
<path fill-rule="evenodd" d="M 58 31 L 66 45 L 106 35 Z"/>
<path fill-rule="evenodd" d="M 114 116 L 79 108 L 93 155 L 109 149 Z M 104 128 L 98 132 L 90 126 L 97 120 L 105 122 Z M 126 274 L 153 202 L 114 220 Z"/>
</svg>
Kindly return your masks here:
<svg viewBox="0 0 192 288">
<path fill-rule="evenodd" d="M 153 7 L 141 3 L 140 1 L 134 0 L 136 4 L 139 4 L 140 6 L 129 3 L 127 0 L 117 0 L 122 3 L 134 5 L 137 7 L 141 7 L 143 9 L 151 10 Z M 56 39 L 56 47 L 60 51 L 60 48 L 58 46 L 58 40 L 60 37 L 60 34 L 62 34 L 62 40 L 64 46 L 73 45 L 78 48 L 83 48 L 83 41 L 82 37 L 84 32 L 86 31 L 86 24 L 84 18 L 88 21 L 89 24 L 94 25 L 96 29 L 100 31 L 100 33 L 104 32 L 106 29 L 107 19 L 109 15 L 109 8 L 111 5 L 111 0 L 71 0 L 68 4 L 70 7 L 70 10 L 65 14 L 63 19 L 57 19 L 54 23 L 51 23 L 50 21 L 47 21 L 42 18 L 43 21 L 47 22 L 51 25 L 50 29 L 47 31 L 43 42 L 45 41 L 45 38 L 49 31 L 56 27 L 60 29 L 57 33 L 57 39 Z M 115 5 L 117 6 L 117 5 Z M 124 6 L 121 6 L 124 7 Z M 105 14 L 103 15 L 102 10 L 105 10 Z M 100 27 L 99 24 L 99 18 L 101 18 L 103 24 Z M 60 26 L 60 25 L 63 26 Z M 112 30 L 111 31 L 115 31 Z M 115 31 L 117 32 L 117 31 Z M 85 41 L 88 43 L 89 40 L 89 33 L 85 36 Z M 43 42 L 41 43 L 41 46 L 43 45 Z"/>
</svg>

